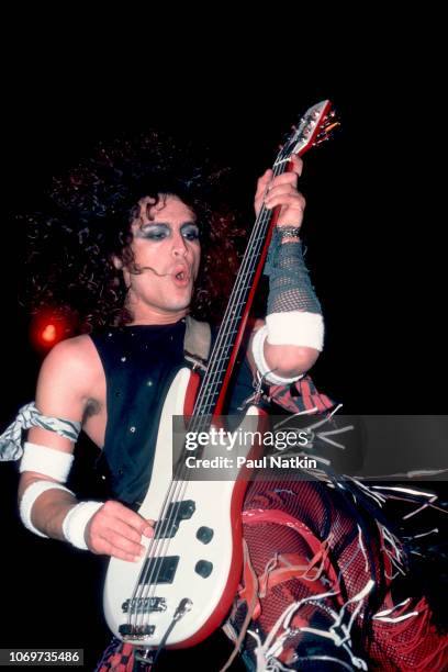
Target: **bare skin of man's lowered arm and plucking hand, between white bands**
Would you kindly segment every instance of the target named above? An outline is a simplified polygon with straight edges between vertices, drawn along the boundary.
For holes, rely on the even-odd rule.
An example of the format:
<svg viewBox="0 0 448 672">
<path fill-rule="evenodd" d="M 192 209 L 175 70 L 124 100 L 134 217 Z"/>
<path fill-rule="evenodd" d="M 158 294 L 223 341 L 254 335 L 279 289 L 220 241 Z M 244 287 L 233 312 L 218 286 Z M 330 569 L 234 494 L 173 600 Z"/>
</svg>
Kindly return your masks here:
<svg viewBox="0 0 448 672">
<path fill-rule="evenodd" d="M 82 422 L 91 396 L 96 354 L 87 336 L 72 338 L 55 346 L 45 359 L 36 393 L 36 406 L 45 415 Z M 74 444 L 54 432 L 42 428 L 30 430 L 29 440 L 54 450 L 71 453 Z M 38 471 L 24 471 L 19 484 L 19 499 L 36 481 L 57 481 Z M 43 492 L 31 509 L 31 522 L 43 534 L 65 539 L 63 523 L 78 501 L 60 489 Z M 85 539 L 94 553 L 107 553 L 123 560 L 135 560 L 144 551 L 142 534 L 152 536 L 153 528 L 119 502 L 107 502 L 90 519 Z"/>
</svg>

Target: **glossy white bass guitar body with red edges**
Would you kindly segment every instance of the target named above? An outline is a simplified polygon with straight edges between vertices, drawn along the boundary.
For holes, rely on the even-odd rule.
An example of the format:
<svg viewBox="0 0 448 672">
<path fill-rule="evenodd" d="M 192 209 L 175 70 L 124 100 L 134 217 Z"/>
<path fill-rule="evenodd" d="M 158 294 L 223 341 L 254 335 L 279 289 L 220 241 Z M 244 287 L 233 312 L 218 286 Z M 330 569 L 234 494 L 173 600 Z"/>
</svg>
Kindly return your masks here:
<svg viewBox="0 0 448 672">
<path fill-rule="evenodd" d="M 138 511 L 144 518 L 160 520 L 163 517 L 172 479 L 172 416 L 184 413 L 186 400 L 194 385 L 193 377 L 189 369 L 181 369 L 165 400 L 153 479 Z M 260 428 L 260 414 L 256 406 L 248 408 L 246 418 L 251 430 Z M 202 457 L 206 458 L 206 452 Z M 175 534 L 154 540 L 143 537 L 147 552 L 139 562 L 111 558 L 103 607 L 108 625 L 116 637 L 157 647 L 182 604 L 190 608 L 176 623 L 164 645 L 193 646 L 221 625 L 240 578 L 240 511 L 246 488 L 247 480 L 180 482 L 177 490 L 182 490 L 182 496 L 175 496 L 172 501 L 183 502 L 183 519 L 179 519 Z M 153 565 L 155 571 L 148 570 L 150 555 L 155 556 L 150 561 L 158 563 Z M 163 557 L 166 567 L 161 565 Z M 142 572 L 147 576 L 142 578 Z"/>
</svg>

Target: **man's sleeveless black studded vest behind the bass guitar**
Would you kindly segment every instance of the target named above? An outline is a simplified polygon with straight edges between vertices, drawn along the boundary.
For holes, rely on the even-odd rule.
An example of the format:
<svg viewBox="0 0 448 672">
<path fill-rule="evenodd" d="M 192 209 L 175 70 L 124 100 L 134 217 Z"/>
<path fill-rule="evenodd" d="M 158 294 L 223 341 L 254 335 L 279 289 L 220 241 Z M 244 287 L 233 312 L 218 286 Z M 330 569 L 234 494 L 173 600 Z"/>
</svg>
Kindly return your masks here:
<svg viewBox="0 0 448 672">
<path fill-rule="evenodd" d="M 139 505 L 146 494 L 164 401 L 176 373 L 186 366 L 184 333 L 181 320 L 169 325 L 109 327 L 91 336 L 107 382 L 103 455 L 112 496 L 126 504 Z M 237 414 L 253 391 L 251 372 L 242 358 L 226 412 Z"/>
</svg>

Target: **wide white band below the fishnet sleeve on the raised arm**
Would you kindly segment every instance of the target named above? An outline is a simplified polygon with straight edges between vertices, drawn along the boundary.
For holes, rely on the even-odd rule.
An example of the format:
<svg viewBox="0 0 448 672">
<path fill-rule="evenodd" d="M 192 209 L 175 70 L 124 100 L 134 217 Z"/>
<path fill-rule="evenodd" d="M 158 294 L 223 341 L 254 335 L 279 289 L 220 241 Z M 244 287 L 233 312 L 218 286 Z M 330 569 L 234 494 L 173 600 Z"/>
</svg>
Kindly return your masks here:
<svg viewBox="0 0 448 672">
<path fill-rule="evenodd" d="M 320 313 L 289 311 L 266 316 L 268 343 L 314 348 L 324 347 L 324 318 Z"/>
</svg>

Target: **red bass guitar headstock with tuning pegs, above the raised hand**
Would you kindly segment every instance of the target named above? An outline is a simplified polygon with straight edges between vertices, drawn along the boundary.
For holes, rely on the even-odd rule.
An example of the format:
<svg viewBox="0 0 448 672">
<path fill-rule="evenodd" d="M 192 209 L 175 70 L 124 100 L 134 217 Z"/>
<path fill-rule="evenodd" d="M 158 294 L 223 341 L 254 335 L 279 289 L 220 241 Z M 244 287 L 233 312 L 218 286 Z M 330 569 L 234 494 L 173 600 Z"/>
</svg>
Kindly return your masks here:
<svg viewBox="0 0 448 672">
<path fill-rule="evenodd" d="M 298 127 L 293 127 L 293 132 L 277 156 L 275 166 L 289 161 L 293 154 L 301 156 L 311 147 L 325 142 L 332 131 L 339 125 L 329 100 L 316 103 L 306 110 Z"/>
</svg>

